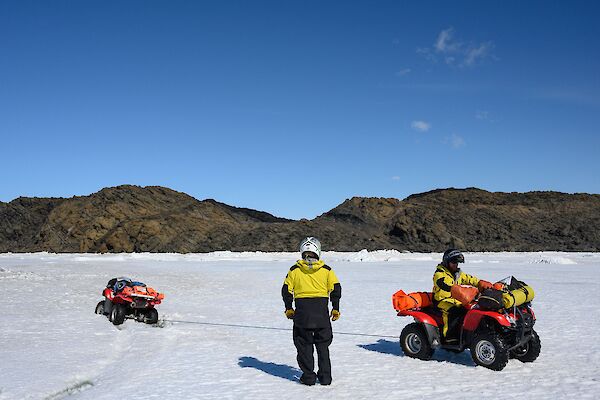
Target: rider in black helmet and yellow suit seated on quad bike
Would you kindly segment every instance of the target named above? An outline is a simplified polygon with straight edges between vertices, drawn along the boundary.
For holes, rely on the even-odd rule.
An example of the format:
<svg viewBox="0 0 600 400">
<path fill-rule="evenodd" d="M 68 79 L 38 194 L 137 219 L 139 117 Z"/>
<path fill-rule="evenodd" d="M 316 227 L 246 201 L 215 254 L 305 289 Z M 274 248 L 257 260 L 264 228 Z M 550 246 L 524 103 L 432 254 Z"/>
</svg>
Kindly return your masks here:
<svg viewBox="0 0 600 400">
<path fill-rule="evenodd" d="M 452 286 L 471 285 L 479 290 L 491 286 L 487 281 L 462 272 L 458 264 L 464 262 L 465 257 L 459 250 L 448 249 L 433 274 L 433 304 L 442 311 L 442 338 L 446 343 L 458 341 L 455 337 L 460 332 L 458 325 L 466 313 L 462 303 L 452 297 Z M 450 330 L 449 325 L 452 325 Z"/>
</svg>

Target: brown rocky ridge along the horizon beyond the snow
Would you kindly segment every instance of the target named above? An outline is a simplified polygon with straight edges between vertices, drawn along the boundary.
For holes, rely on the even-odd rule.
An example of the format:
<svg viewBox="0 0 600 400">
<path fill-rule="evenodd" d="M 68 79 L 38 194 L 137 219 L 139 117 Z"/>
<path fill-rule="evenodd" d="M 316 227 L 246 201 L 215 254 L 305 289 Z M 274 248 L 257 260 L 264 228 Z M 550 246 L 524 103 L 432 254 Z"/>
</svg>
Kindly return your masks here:
<svg viewBox="0 0 600 400">
<path fill-rule="evenodd" d="M 296 251 L 308 235 L 336 251 L 600 251 L 600 195 L 437 189 L 299 221 L 159 186 L 0 202 L 0 252 Z"/>
</svg>

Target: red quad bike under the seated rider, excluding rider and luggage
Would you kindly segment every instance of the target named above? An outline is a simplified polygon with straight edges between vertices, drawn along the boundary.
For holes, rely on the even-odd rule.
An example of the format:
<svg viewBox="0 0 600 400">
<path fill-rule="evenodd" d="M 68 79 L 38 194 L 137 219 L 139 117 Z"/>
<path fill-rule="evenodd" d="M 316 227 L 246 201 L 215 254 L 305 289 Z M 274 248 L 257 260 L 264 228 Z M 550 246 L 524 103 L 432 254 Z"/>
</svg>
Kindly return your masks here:
<svg viewBox="0 0 600 400">
<path fill-rule="evenodd" d="M 400 335 L 400 346 L 409 357 L 429 360 L 437 348 L 452 352 L 471 350 L 476 364 L 494 371 L 502 370 L 509 358 L 533 362 L 540 354 L 541 342 L 533 330 L 535 314 L 530 303 L 508 310 L 483 311 L 477 301 L 467 306 L 458 342 L 446 344 L 441 340 L 441 311 L 433 306 L 398 312 L 411 316 Z"/>
</svg>

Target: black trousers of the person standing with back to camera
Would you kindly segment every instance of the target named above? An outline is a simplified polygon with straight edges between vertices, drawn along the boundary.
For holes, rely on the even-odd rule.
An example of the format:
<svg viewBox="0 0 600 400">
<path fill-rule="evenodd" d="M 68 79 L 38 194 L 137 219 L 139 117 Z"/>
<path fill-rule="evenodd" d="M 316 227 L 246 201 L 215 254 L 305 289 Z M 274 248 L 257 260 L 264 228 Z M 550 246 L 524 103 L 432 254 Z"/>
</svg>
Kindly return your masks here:
<svg viewBox="0 0 600 400">
<path fill-rule="evenodd" d="M 298 351 L 298 366 L 302 370 L 302 380 L 315 383 L 319 379 L 321 384 L 331 383 L 331 360 L 329 359 L 329 345 L 333 340 L 331 325 L 325 328 L 302 328 L 294 325 L 294 345 Z M 317 349 L 319 370 L 315 374 L 314 348 Z"/>
</svg>

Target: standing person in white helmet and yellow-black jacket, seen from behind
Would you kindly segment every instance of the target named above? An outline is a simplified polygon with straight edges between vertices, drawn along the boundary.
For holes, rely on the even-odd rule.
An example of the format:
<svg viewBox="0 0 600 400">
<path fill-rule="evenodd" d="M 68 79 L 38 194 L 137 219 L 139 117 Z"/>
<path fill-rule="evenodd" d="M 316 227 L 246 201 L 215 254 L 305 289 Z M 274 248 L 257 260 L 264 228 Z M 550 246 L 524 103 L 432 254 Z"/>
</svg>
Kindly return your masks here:
<svg viewBox="0 0 600 400">
<path fill-rule="evenodd" d="M 300 243 L 302 259 L 292 266 L 285 277 L 281 296 L 285 304 L 285 315 L 294 320 L 294 345 L 296 359 L 302 370 L 300 383 L 314 385 L 331 384 L 331 361 L 329 345 L 333 340 L 331 322 L 340 317 L 342 287 L 335 273 L 319 258 L 321 243 L 307 237 Z M 328 300 L 331 299 L 331 314 Z M 292 303 L 295 303 L 294 310 Z M 317 349 L 319 370 L 314 372 L 314 348 Z"/>
</svg>

